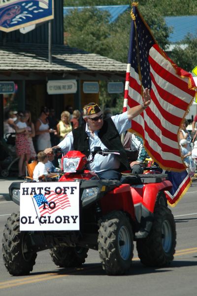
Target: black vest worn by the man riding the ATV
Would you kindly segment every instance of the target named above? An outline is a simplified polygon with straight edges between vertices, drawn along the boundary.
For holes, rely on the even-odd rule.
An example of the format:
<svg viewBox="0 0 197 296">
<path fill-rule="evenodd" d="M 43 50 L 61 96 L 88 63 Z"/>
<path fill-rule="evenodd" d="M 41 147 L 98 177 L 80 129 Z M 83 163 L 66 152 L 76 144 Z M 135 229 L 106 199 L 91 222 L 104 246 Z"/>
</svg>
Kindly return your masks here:
<svg viewBox="0 0 197 296">
<path fill-rule="evenodd" d="M 73 147 L 74 150 L 81 151 L 87 157 L 90 155 L 89 148 L 89 137 L 86 133 L 86 124 L 74 129 L 72 131 L 73 134 Z M 120 155 L 116 155 L 119 159 L 121 166 L 120 170 L 128 170 L 130 169 L 130 165 L 127 159 L 127 154 L 121 142 L 120 135 L 117 131 L 117 128 L 111 118 L 107 118 L 103 121 L 103 126 L 98 132 L 98 136 L 101 142 L 109 149 L 109 150 L 118 150 Z"/>
</svg>

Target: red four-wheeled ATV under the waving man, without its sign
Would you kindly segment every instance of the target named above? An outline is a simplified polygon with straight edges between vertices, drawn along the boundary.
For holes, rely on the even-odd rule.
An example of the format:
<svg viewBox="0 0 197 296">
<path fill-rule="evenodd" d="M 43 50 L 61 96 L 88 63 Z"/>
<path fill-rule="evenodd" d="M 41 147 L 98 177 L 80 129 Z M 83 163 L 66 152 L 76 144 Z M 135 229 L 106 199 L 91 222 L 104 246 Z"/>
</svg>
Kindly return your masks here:
<svg viewBox="0 0 197 296">
<path fill-rule="evenodd" d="M 98 148 L 87 159 L 79 151 L 69 151 L 62 157 L 62 173 L 55 182 L 59 186 L 60 182 L 79 184 L 79 195 L 75 197 L 79 199 L 78 230 L 23 231 L 20 223 L 24 217 L 20 217 L 19 212 L 8 218 L 2 255 L 10 274 L 29 274 L 36 253 L 46 249 L 50 249 L 54 263 L 65 268 L 84 263 L 88 249 L 98 250 L 106 274 L 124 274 L 131 267 L 133 241 L 136 241 L 139 259 L 146 266 L 167 266 L 173 260 L 176 230 L 164 193 L 172 187 L 166 180 L 167 175 L 126 173 L 122 182 L 99 180 L 97 174 L 86 170 L 96 153 L 118 152 Z M 26 182 L 23 186 L 28 183 L 44 184 Z M 17 204 L 21 188 L 19 182 L 9 187 L 10 196 Z M 39 219 L 42 222 L 47 216 Z"/>
</svg>

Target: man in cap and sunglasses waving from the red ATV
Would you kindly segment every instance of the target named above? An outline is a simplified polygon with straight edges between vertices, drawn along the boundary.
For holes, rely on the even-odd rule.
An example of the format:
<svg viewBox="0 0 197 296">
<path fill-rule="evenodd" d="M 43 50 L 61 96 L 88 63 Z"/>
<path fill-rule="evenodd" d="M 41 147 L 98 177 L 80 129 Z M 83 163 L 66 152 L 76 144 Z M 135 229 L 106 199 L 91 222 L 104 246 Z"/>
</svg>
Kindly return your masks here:
<svg viewBox="0 0 197 296">
<path fill-rule="evenodd" d="M 87 157 L 95 147 L 119 150 L 120 155 L 116 156 L 96 154 L 94 161 L 89 164 L 89 169 L 96 172 L 100 179 L 118 180 L 121 177 L 119 171 L 130 168 L 120 134 L 131 128 L 131 119 L 142 113 L 150 102 L 150 90 L 146 88 L 141 105 L 106 120 L 103 120 L 99 106 L 91 102 L 83 108 L 85 124 L 72 130 L 56 147 L 62 148 L 65 153 L 70 150 L 79 150 Z M 49 155 L 52 153 L 52 148 L 46 148 L 44 152 Z"/>
</svg>

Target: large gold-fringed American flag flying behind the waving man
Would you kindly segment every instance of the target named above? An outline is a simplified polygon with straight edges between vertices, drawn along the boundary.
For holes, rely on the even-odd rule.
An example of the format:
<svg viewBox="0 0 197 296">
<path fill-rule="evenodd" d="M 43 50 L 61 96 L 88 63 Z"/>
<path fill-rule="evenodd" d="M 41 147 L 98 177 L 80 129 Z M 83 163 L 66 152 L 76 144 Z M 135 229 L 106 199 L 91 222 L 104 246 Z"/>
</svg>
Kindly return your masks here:
<svg viewBox="0 0 197 296">
<path fill-rule="evenodd" d="M 181 172 L 178 131 L 195 96 L 191 74 L 178 68 L 158 46 L 148 25 L 132 3 L 131 37 L 125 84 L 124 109 L 142 103 L 144 88 L 151 104 L 132 119 L 131 131 L 144 139 L 149 155 L 164 170 Z M 193 88 L 193 89 L 192 89 Z"/>
</svg>

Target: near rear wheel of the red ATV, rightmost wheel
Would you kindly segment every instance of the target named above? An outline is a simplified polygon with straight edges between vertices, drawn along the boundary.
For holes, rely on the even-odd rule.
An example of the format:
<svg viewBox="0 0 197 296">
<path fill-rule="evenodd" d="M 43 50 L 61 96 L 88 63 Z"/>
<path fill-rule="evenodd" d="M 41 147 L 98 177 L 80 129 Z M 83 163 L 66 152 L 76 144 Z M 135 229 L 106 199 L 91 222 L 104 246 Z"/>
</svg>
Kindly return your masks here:
<svg viewBox="0 0 197 296">
<path fill-rule="evenodd" d="M 150 234 L 136 242 L 140 261 L 146 266 L 168 266 L 176 246 L 176 226 L 170 209 L 158 206 Z"/>
</svg>

